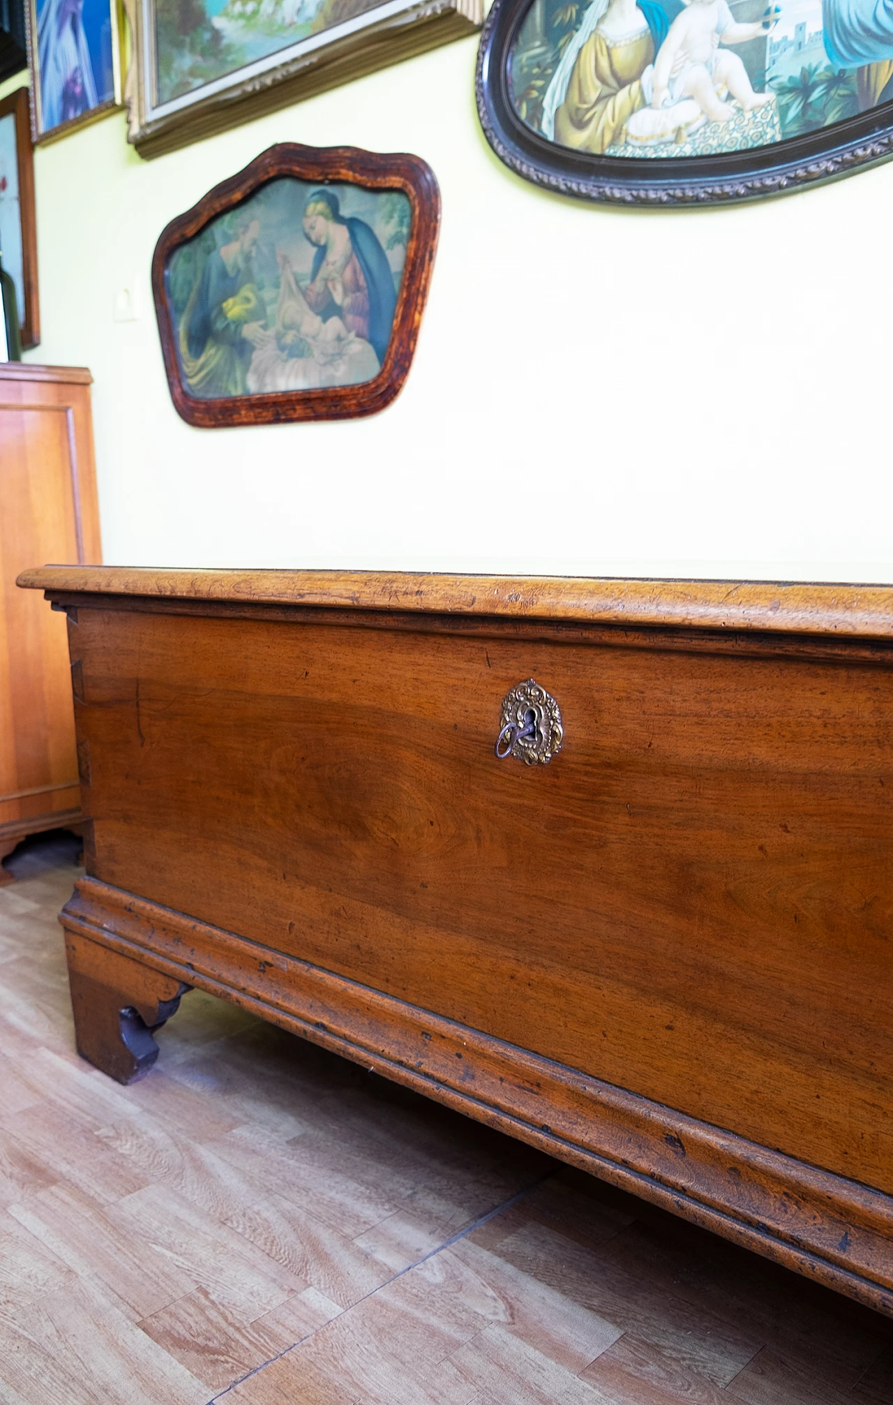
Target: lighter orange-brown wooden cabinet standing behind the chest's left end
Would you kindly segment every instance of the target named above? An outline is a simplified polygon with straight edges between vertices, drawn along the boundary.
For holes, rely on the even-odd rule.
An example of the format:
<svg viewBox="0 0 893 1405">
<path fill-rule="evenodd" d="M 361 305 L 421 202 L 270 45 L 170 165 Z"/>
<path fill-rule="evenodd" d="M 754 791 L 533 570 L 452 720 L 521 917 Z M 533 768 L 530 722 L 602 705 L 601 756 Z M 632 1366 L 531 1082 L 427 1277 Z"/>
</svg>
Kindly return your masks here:
<svg viewBox="0 0 893 1405">
<path fill-rule="evenodd" d="M 0 362 L 0 860 L 25 835 L 80 819 L 65 615 L 15 576 L 35 561 L 102 559 L 91 379 Z"/>
</svg>

